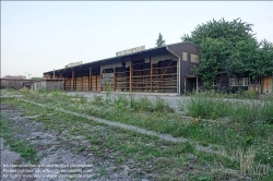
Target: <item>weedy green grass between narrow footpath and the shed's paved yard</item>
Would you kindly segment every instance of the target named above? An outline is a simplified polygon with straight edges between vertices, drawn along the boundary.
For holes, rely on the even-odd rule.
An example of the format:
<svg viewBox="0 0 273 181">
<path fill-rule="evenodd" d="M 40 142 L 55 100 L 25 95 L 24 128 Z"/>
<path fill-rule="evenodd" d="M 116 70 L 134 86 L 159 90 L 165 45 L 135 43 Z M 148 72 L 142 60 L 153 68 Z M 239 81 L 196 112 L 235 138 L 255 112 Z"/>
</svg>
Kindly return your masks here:
<svg viewBox="0 0 273 181">
<path fill-rule="evenodd" d="M 51 107 L 86 113 L 98 118 L 138 125 L 158 133 L 183 136 L 202 145 L 218 144 L 226 149 L 238 147 L 247 149 L 253 146 L 257 150 L 254 161 L 273 166 L 273 125 L 272 99 L 226 100 L 213 95 L 192 95 L 185 110 L 193 119 L 181 119 L 174 113 L 166 101 L 150 100 L 147 97 L 136 99 L 133 95 L 111 97 L 105 102 L 100 96 L 87 100 L 81 95 L 71 99 L 63 93 L 31 93 L 26 98 Z M 190 113 L 189 113 L 190 114 Z M 228 121 L 219 121 L 218 118 Z M 203 122 L 200 118 L 215 119 L 215 122 Z"/>
</svg>

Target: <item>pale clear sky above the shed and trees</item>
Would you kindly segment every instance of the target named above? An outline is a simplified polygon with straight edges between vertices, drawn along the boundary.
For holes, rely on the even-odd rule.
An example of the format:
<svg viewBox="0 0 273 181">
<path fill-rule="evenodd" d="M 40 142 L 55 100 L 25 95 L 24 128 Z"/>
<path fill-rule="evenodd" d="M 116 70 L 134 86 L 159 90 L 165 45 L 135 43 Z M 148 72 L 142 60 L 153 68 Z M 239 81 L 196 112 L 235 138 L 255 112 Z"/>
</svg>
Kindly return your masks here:
<svg viewBox="0 0 273 181">
<path fill-rule="evenodd" d="M 253 24 L 273 43 L 273 1 L 1 1 L 1 77 L 115 57 L 117 51 L 181 41 L 209 21 Z"/>
</svg>

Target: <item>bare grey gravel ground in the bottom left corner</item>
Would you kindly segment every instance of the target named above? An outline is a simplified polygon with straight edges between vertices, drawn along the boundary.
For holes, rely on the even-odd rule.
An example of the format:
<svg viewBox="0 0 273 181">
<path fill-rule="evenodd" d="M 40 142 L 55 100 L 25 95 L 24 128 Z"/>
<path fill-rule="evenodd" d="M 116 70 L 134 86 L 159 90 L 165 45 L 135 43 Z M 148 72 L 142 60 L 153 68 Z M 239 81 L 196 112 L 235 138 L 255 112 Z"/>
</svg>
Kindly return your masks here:
<svg viewBox="0 0 273 181">
<path fill-rule="evenodd" d="M 116 166 L 112 162 L 98 158 L 90 152 L 74 153 L 74 148 L 80 143 L 74 143 L 74 141 L 69 140 L 63 134 L 46 130 L 43 123 L 29 120 L 38 117 L 39 114 L 24 117 L 20 110 L 13 110 L 7 105 L 1 105 L 1 123 L 4 123 L 10 129 L 7 134 L 10 134 L 13 141 L 29 143 L 29 146 L 34 146 L 37 150 L 37 157 L 39 158 L 38 162 L 35 164 L 25 160 L 20 154 L 10 150 L 9 146 L 3 146 L 3 142 L 8 141 L 1 137 L 1 168 L 2 173 L 4 173 L 1 180 L 136 180 L 128 176 L 126 169 L 116 173 Z M 23 146 L 29 148 L 28 145 Z M 21 150 L 24 150 L 24 147 Z M 8 167 L 8 165 L 12 167 Z M 23 168 L 13 168 L 14 165 L 24 166 L 27 172 L 21 172 L 20 170 Z M 3 170 L 3 166 L 5 166 L 5 170 Z M 60 166 L 63 167 L 60 168 Z M 66 178 L 64 174 L 71 178 Z M 24 178 L 25 176 L 27 176 L 27 179 Z M 80 176 L 86 177 L 86 179 L 80 178 Z"/>
</svg>

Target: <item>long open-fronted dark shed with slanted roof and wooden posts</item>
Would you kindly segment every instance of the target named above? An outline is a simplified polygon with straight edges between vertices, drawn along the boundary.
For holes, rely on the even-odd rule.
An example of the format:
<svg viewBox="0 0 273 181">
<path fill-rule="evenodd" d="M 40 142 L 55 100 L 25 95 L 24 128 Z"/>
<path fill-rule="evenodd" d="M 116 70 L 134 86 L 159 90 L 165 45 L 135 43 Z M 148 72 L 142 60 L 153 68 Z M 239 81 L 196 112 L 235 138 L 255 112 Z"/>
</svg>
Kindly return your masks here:
<svg viewBox="0 0 273 181">
<path fill-rule="evenodd" d="M 112 58 L 45 72 L 44 79 L 63 79 L 64 90 L 110 88 L 112 92 L 182 94 L 202 84 L 192 72 L 198 65 L 198 48 L 188 41 L 141 51 L 131 49 Z"/>
</svg>

